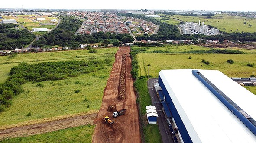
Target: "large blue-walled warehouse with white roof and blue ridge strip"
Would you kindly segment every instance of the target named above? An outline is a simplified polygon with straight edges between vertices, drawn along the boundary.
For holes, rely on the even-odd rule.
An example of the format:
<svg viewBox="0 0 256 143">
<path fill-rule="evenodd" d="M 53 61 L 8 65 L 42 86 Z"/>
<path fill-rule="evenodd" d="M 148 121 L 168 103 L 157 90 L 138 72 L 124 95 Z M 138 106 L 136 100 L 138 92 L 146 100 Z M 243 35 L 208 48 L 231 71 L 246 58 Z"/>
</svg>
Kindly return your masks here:
<svg viewBox="0 0 256 143">
<path fill-rule="evenodd" d="M 222 72 L 161 70 L 158 82 L 181 142 L 256 142 L 256 96 Z"/>
</svg>

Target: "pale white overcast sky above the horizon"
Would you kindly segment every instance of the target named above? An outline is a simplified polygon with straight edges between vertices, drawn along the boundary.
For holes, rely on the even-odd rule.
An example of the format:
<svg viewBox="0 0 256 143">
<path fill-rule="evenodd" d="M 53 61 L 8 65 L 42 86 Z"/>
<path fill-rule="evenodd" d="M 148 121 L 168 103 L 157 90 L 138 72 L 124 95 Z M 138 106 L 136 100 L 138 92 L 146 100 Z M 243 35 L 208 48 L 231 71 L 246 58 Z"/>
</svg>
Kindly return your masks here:
<svg viewBox="0 0 256 143">
<path fill-rule="evenodd" d="M 3 0 L 0 8 L 256 11 L 256 0 Z"/>
</svg>

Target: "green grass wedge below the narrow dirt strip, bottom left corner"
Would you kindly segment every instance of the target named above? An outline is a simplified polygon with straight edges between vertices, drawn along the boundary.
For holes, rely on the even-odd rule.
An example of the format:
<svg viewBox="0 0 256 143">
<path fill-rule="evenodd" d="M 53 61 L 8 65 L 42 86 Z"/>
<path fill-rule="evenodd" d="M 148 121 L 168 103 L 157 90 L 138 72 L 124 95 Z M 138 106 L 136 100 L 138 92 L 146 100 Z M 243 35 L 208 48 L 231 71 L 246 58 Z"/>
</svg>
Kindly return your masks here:
<svg viewBox="0 0 256 143">
<path fill-rule="evenodd" d="M 91 143 L 93 125 L 67 128 L 29 137 L 2 140 L 1 143 Z"/>
</svg>

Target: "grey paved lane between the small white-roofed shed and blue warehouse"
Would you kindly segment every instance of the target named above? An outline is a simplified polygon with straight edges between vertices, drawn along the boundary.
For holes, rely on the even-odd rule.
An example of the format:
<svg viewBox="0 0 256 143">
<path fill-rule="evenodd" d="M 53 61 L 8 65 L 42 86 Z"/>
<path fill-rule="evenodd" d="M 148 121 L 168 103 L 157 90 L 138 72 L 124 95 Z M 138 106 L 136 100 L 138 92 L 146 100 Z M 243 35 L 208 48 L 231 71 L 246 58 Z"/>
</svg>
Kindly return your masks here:
<svg viewBox="0 0 256 143">
<path fill-rule="evenodd" d="M 156 78 L 149 79 L 148 81 L 148 88 L 149 88 L 149 94 L 151 96 L 151 102 L 153 106 L 156 106 L 156 111 L 158 114 L 157 118 L 157 124 L 159 126 L 160 134 L 162 136 L 163 143 L 174 143 L 172 140 L 172 134 L 170 133 L 168 124 L 166 122 L 166 116 L 162 112 L 162 105 L 159 102 L 159 98 L 156 95 L 155 89 L 154 89 L 154 81 L 156 81 Z"/>
</svg>

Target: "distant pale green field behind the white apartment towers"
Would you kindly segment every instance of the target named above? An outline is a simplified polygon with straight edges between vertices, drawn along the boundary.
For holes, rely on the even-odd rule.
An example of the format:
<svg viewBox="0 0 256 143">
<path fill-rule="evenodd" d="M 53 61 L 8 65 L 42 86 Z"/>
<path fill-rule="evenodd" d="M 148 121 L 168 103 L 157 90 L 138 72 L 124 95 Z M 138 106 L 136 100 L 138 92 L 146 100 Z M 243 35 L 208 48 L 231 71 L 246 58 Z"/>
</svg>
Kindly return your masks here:
<svg viewBox="0 0 256 143">
<path fill-rule="evenodd" d="M 246 18 L 241 16 L 229 16 L 227 14 L 211 16 L 212 18 L 206 18 L 206 16 L 181 16 L 173 15 L 168 16 L 170 18 L 179 19 L 185 22 L 197 22 L 200 20 L 205 25 L 212 25 L 217 27 L 221 31 L 225 32 L 255 32 L 256 31 L 256 19 Z M 172 23 L 172 19 L 170 22 Z M 169 20 L 167 20 L 169 22 Z M 246 24 L 244 24 L 246 22 Z M 249 27 L 249 24 L 252 25 Z"/>
</svg>

